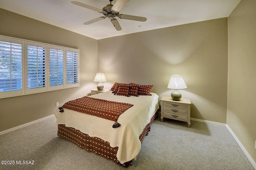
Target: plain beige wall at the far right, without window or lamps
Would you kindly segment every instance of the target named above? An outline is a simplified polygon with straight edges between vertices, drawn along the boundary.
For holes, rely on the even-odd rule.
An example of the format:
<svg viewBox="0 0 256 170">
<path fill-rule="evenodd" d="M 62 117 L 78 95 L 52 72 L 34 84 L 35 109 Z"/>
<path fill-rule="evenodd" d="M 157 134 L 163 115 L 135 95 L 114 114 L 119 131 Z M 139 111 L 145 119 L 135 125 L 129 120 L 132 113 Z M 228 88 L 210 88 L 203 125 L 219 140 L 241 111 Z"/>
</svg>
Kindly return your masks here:
<svg viewBox="0 0 256 170">
<path fill-rule="evenodd" d="M 241 0 L 228 17 L 227 124 L 256 162 L 256 1 Z"/>
</svg>

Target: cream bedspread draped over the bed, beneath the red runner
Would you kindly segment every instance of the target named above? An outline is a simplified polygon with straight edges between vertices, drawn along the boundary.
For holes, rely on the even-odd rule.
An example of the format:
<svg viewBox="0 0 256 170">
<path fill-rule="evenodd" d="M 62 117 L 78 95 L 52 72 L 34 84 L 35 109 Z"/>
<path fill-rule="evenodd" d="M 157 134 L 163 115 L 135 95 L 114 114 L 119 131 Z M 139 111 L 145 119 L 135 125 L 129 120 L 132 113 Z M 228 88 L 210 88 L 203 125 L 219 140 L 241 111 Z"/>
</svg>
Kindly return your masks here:
<svg viewBox="0 0 256 170">
<path fill-rule="evenodd" d="M 114 121 L 69 109 L 64 109 L 64 112 L 61 113 L 58 107 L 54 111 L 57 119 L 56 124 L 65 124 L 66 127 L 78 129 L 90 137 L 98 137 L 108 141 L 111 147 L 118 147 L 116 157 L 123 164 L 135 158 L 140 152 L 139 136 L 159 108 L 159 96 L 155 93 L 151 94 L 152 96 L 126 97 L 117 96 L 112 94 L 112 91 L 108 91 L 90 96 L 92 98 L 134 104 L 119 116 L 118 123 L 121 126 L 115 129 L 112 128 Z"/>
</svg>

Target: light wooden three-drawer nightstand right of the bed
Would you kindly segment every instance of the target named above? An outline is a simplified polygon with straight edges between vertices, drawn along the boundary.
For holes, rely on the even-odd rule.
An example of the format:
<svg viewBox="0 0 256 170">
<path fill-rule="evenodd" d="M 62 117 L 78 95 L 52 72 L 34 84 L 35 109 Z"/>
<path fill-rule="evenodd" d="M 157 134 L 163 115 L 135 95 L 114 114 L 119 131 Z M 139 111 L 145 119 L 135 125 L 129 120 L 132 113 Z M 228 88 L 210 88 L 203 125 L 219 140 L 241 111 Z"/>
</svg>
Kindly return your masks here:
<svg viewBox="0 0 256 170">
<path fill-rule="evenodd" d="M 171 97 L 164 96 L 161 99 L 161 121 L 164 117 L 186 121 L 190 127 L 190 104 L 190 99 L 181 98 L 179 101 L 175 101 Z"/>
</svg>

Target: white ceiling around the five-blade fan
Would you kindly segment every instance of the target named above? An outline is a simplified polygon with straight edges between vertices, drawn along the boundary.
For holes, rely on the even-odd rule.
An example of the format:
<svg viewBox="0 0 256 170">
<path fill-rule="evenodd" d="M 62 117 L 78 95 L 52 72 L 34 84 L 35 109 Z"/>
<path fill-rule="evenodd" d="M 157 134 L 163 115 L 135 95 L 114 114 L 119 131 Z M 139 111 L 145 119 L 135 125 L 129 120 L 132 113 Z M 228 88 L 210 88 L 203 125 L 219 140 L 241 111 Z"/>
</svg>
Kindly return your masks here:
<svg viewBox="0 0 256 170">
<path fill-rule="evenodd" d="M 103 39 L 151 29 L 228 17 L 240 0 L 130 0 L 120 14 L 146 17 L 147 21 L 117 18 L 116 31 L 108 18 L 83 23 L 103 14 L 74 5 L 71 0 L 0 0 L 0 8 L 43 21 L 94 39 Z M 77 0 L 102 9 L 108 0 Z M 114 0 L 114 4 L 117 0 Z"/>
</svg>

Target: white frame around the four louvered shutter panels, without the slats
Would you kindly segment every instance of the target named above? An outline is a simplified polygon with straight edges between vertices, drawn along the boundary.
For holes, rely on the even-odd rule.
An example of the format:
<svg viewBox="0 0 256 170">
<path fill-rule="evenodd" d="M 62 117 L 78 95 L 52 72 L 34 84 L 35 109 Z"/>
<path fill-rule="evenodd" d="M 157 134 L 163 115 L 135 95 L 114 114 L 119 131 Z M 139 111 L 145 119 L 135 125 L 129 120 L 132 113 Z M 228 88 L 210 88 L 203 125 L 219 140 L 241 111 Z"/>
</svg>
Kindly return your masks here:
<svg viewBox="0 0 256 170">
<path fill-rule="evenodd" d="M 15 91 L 8 91 L 8 92 L 0 92 L 0 99 L 14 97 L 14 96 L 22 96 L 22 95 L 27 95 L 27 94 L 35 94 L 35 93 L 40 93 L 40 92 L 48 92 L 48 91 L 53 91 L 53 90 L 61 90 L 61 89 L 73 88 L 73 87 L 80 86 L 80 83 L 79 83 L 80 82 L 79 49 L 73 49 L 70 47 L 63 47 L 63 46 L 47 44 L 47 43 L 41 43 L 41 42 L 37 42 L 37 41 L 30 41 L 30 40 L 26 40 L 26 39 L 19 39 L 19 38 L 15 38 L 15 37 L 8 37 L 5 35 L 0 35 L 0 41 L 18 43 L 18 44 L 22 45 L 22 89 L 15 90 Z M 28 45 L 45 48 L 45 61 L 44 61 L 45 62 L 45 65 L 44 65 L 45 86 L 44 87 L 28 89 Z M 63 69 L 63 85 L 50 86 L 50 49 L 63 50 L 63 67 L 64 67 L 64 69 Z M 77 57 L 78 57 L 77 83 L 73 83 L 73 84 L 66 83 L 66 57 L 67 57 L 66 51 L 72 51 L 74 53 L 77 53 Z"/>
</svg>

